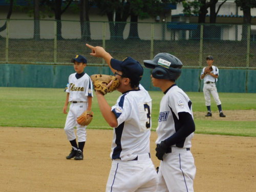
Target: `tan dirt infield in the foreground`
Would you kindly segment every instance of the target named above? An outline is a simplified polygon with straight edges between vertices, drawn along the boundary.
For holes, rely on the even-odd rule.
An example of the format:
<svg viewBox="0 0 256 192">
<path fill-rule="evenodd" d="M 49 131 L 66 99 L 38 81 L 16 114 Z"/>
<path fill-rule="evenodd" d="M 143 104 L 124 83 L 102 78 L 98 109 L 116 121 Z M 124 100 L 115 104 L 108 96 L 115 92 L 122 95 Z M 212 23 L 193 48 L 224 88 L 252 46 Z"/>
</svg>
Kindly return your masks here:
<svg viewBox="0 0 256 192">
<path fill-rule="evenodd" d="M 0 127 L 0 191 L 105 191 L 113 131 L 88 130 L 84 160 L 71 150 L 62 129 Z M 155 140 L 151 154 L 155 166 Z M 191 152 L 195 191 L 255 191 L 256 138 L 196 134 Z"/>
</svg>

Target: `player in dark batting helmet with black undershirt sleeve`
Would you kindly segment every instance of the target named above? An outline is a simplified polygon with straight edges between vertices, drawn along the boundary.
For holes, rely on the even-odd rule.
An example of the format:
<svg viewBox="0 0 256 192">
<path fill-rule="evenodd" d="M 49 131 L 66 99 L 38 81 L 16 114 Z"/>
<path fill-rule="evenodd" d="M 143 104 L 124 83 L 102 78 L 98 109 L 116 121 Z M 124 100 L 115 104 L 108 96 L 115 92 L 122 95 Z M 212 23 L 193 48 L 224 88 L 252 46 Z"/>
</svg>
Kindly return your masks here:
<svg viewBox="0 0 256 192">
<path fill-rule="evenodd" d="M 190 152 L 195 131 L 192 102 L 175 84 L 182 62 L 168 53 L 159 53 L 153 60 L 144 60 L 144 66 L 153 69 L 153 86 L 164 93 L 156 130 L 156 156 L 161 160 L 157 191 L 194 191 L 196 166 Z"/>
</svg>

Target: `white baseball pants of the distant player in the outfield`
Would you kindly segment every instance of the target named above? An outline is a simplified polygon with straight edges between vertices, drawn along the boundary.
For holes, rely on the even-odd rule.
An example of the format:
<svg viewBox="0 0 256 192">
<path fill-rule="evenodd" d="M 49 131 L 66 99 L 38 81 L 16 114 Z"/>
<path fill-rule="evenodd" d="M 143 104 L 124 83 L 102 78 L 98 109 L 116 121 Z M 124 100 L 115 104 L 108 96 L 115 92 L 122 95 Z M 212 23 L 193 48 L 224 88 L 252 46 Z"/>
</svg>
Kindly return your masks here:
<svg viewBox="0 0 256 192">
<path fill-rule="evenodd" d="M 214 97 L 217 105 L 221 104 L 215 83 L 204 83 L 203 92 L 206 106 L 210 106 L 210 94 Z"/>
</svg>

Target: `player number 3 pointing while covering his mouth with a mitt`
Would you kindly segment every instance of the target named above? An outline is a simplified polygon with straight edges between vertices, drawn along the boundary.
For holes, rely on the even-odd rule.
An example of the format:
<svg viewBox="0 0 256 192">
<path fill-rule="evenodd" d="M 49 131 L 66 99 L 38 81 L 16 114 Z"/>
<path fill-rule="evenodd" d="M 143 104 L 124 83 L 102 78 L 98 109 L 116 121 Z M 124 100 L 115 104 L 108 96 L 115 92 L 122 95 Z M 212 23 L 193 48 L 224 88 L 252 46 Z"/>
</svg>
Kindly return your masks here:
<svg viewBox="0 0 256 192">
<path fill-rule="evenodd" d="M 152 99 L 139 84 L 143 68 L 131 57 L 119 61 L 102 47 L 87 46 L 92 49 L 92 56 L 108 63 L 119 79 L 117 90 L 122 93 L 111 107 L 100 91 L 95 92 L 102 116 L 114 127 L 106 191 L 155 191 L 158 178 L 150 156 Z"/>
</svg>

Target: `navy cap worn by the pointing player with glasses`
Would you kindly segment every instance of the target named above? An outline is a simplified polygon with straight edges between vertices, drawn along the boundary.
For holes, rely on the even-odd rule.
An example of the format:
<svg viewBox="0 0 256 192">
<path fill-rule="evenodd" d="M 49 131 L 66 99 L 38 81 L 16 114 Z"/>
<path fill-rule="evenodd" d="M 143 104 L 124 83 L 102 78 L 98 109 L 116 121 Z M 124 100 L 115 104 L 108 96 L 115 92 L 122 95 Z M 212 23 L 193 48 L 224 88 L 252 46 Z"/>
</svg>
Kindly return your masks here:
<svg viewBox="0 0 256 192">
<path fill-rule="evenodd" d="M 132 82 L 137 83 L 141 80 L 143 75 L 143 68 L 140 63 L 132 57 L 126 57 L 123 61 L 116 59 L 110 60 L 110 65 L 113 69 L 121 71 L 123 76 L 131 79 Z"/>
</svg>

